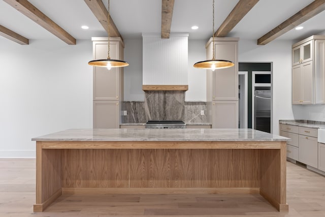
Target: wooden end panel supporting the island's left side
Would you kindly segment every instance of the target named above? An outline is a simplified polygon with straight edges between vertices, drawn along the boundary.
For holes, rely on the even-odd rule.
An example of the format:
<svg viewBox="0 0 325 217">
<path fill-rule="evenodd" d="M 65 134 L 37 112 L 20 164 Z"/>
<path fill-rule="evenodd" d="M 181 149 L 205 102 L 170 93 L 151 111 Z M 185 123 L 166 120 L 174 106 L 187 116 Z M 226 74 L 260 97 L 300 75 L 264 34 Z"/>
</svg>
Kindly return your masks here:
<svg viewBox="0 0 325 217">
<path fill-rule="evenodd" d="M 36 143 L 36 204 L 34 211 L 43 211 L 62 194 L 61 150 L 43 149 Z"/>
</svg>

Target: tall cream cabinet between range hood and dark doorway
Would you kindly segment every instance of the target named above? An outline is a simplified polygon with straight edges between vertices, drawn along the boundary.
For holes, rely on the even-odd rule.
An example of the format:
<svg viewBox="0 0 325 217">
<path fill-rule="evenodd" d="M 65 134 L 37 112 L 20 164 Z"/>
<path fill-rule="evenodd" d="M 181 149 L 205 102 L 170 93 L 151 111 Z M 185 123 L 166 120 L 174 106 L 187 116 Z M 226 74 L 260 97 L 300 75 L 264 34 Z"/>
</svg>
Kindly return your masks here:
<svg viewBox="0 0 325 217">
<path fill-rule="evenodd" d="M 207 70 L 208 118 L 212 128 L 238 128 L 238 41 L 214 38 L 215 58 L 231 60 L 235 66 Z M 206 44 L 207 59 L 212 58 L 212 38 Z"/>
</svg>

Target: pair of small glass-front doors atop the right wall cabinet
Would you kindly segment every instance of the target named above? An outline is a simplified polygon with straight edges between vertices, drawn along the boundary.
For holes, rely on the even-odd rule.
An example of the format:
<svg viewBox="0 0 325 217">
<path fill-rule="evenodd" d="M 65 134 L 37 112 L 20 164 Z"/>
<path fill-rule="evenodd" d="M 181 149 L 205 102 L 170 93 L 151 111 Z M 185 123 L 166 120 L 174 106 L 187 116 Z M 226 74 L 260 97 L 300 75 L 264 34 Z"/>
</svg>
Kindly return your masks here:
<svg viewBox="0 0 325 217">
<path fill-rule="evenodd" d="M 293 48 L 293 66 L 313 60 L 313 40 Z"/>
</svg>

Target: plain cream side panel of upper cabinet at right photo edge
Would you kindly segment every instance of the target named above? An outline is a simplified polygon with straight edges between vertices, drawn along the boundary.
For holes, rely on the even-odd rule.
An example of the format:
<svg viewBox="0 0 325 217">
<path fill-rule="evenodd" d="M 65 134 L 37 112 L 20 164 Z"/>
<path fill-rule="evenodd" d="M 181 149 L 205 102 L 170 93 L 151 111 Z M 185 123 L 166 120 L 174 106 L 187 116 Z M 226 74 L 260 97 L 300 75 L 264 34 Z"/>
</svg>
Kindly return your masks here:
<svg viewBox="0 0 325 217">
<path fill-rule="evenodd" d="M 325 104 L 325 40 L 315 41 L 315 103 Z"/>
</svg>

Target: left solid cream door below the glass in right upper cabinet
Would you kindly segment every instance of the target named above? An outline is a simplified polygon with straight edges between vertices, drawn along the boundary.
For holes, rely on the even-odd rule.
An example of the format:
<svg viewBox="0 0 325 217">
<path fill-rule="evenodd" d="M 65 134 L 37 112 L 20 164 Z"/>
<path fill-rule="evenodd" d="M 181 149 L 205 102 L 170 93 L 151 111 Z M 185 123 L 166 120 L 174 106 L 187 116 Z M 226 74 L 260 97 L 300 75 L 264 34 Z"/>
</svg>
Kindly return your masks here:
<svg viewBox="0 0 325 217">
<path fill-rule="evenodd" d="M 293 104 L 302 104 L 302 70 L 301 65 L 293 67 L 292 71 L 292 101 Z"/>
</svg>

